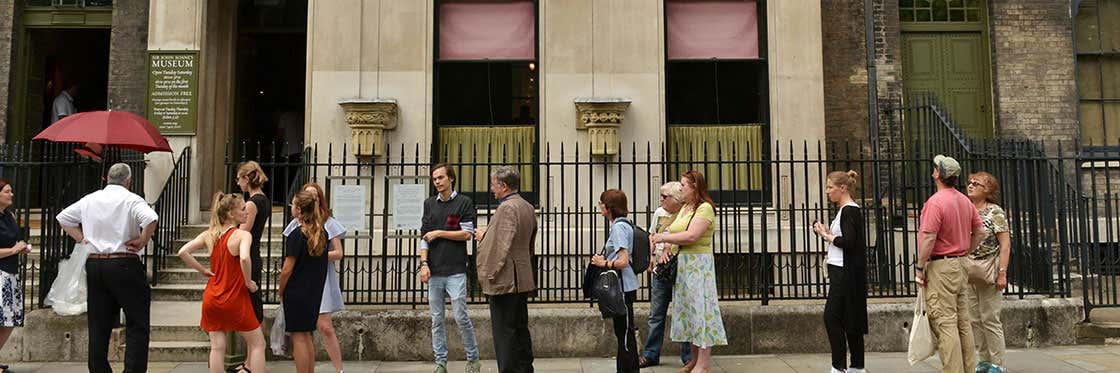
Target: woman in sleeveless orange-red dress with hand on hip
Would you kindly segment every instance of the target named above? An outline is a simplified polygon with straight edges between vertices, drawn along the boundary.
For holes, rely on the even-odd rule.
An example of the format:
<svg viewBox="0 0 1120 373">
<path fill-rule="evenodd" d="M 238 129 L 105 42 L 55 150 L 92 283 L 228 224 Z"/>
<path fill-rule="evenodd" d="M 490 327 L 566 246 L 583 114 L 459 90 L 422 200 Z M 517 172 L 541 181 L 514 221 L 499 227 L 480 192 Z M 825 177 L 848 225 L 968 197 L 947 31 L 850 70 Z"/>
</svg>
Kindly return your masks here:
<svg viewBox="0 0 1120 373">
<path fill-rule="evenodd" d="M 253 313 L 250 292 L 258 290 L 253 282 L 252 259 L 249 255 L 252 235 L 237 230 L 245 222 L 245 202 L 237 194 L 214 195 L 214 211 L 209 229 L 179 249 L 179 258 L 199 273 L 209 278 L 203 292 L 202 328 L 209 333 L 209 371 L 225 372 L 223 358 L 226 332 L 239 332 L 249 346 L 248 366 L 244 371 L 265 373 L 264 334 Z M 192 253 L 211 250 L 211 268 L 198 263 Z"/>
</svg>

